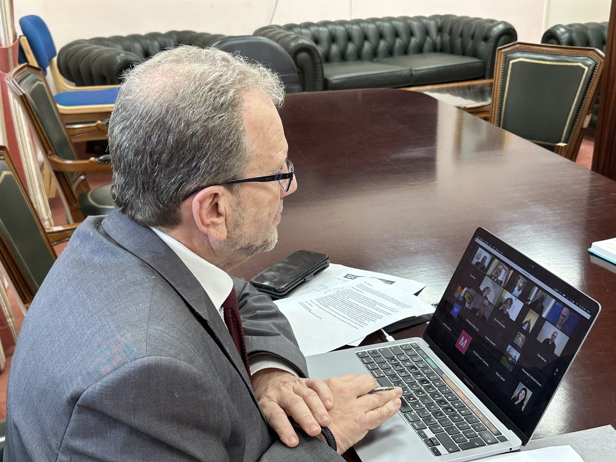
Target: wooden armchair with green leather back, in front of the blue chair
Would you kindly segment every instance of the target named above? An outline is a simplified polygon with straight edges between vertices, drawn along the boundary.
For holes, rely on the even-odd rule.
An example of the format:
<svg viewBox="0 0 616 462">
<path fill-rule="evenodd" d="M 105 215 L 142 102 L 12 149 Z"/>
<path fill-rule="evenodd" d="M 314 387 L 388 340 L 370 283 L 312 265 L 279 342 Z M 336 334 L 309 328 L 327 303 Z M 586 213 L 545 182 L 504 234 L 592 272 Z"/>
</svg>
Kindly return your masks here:
<svg viewBox="0 0 616 462">
<path fill-rule="evenodd" d="M 88 215 L 110 213 L 114 208 L 111 184 L 91 189 L 84 174 L 85 171 L 110 171 L 110 158 L 108 155 L 87 160 L 78 158 L 43 72 L 37 67 L 23 64 L 10 71 L 7 83 L 17 95 L 57 179 L 70 221 L 80 222 Z M 102 131 L 107 128 L 101 123 L 94 123 L 83 124 L 83 129 Z"/>
</svg>

